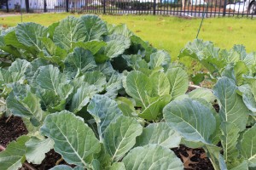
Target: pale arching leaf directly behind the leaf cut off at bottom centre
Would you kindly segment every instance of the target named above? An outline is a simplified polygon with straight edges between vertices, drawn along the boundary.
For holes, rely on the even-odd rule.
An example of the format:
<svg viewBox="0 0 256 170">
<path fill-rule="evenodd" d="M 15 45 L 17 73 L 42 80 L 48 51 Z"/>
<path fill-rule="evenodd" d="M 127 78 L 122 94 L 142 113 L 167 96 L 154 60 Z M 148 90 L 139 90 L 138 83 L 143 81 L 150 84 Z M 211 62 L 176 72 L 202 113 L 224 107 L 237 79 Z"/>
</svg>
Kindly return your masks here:
<svg viewBox="0 0 256 170">
<path fill-rule="evenodd" d="M 178 147 L 181 136 L 166 122 L 152 123 L 148 127 L 143 128 L 143 133 L 137 137 L 136 146 L 144 146 L 147 144 L 158 144 L 166 148 Z"/>
</svg>

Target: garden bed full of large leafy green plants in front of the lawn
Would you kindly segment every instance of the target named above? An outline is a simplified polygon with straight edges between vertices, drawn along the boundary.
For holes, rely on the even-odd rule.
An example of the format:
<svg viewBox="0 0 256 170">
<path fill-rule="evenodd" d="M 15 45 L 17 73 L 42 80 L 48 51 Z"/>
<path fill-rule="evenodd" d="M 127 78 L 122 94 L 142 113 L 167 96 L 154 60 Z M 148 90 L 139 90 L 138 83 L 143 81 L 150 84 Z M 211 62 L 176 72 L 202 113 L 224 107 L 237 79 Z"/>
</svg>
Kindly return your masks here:
<svg viewBox="0 0 256 170">
<path fill-rule="evenodd" d="M 242 46 L 189 42 L 179 57 L 209 71 L 191 80 L 215 84 L 192 91 L 169 54 L 96 15 L 19 24 L 1 31 L 0 49 L 1 122 L 20 122 L 1 142 L 21 135 L 0 153 L 3 170 L 256 166 L 256 57 Z"/>
</svg>

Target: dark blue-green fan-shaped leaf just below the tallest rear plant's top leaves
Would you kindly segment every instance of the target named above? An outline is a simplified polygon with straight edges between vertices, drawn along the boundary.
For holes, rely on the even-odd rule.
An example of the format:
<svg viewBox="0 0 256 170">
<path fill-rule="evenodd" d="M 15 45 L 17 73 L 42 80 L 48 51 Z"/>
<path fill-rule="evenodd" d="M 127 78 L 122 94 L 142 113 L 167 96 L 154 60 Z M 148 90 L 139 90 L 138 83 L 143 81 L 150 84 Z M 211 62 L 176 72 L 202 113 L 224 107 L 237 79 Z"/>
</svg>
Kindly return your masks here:
<svg viewBox="0 0 256 170">
<path fill-rule="evenodd" d="M 65 59 L 65 70 L 71 72 L 90 71 L 96 67 L 96 62 L 89 50 L 84 48 L 74 48 L 73 53 L 67 55 Z"/>
</svg>

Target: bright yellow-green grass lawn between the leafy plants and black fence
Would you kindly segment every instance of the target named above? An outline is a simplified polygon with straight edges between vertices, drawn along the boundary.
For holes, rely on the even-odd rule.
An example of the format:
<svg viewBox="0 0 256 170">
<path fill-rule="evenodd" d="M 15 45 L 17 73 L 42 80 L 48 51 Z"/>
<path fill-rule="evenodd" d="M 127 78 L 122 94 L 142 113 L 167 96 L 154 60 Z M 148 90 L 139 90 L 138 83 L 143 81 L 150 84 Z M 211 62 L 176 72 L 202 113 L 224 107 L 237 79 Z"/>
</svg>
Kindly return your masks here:
<svg viewBox="0 0 256 170">
<path fill-rule="evenodd" d="M 67 17 L 62 14 L 25 14 L 23 22 L 37 22 L 44 26 Z M 79 16 L 79 14 L 73 14 Z M 155 48 L 165 49 L 172 60 L 184 45 L 195 39 L 201 19 L 183 19 L 170 16 L 152 15 L 100 15 L 111 24 L 125 23 L 131 31 Z M 20 16 L 0 16 L 0 25 L 16 26 Z M 243 44 L 247 52 L 256 51 L 256 20 L 247 18 L 211 18 L 203 22 L 199 38 L 212 41 L 219 48 L 232 48 L 234 44 Z M 190 60 L 190 59 L 189 59 Z M 185 62 L 189 66 L 190 62 Z"/>
</svg>

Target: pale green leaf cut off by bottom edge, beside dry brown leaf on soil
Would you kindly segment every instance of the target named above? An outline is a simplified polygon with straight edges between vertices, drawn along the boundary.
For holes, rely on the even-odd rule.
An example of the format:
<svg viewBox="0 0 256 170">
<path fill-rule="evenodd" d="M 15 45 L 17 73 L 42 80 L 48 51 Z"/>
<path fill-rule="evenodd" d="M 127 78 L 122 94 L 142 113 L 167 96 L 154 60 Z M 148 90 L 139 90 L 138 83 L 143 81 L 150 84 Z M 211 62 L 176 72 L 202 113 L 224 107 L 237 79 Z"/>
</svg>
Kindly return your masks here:
<svg viewBox="0 0 256 170">
<path fill-rule="evenodd" d="M 132 149 L 123 159 L 126 169 L 172 169 L 183 170 L 183 163 L 172 150 L 149 144 Z"/>
</svg>

